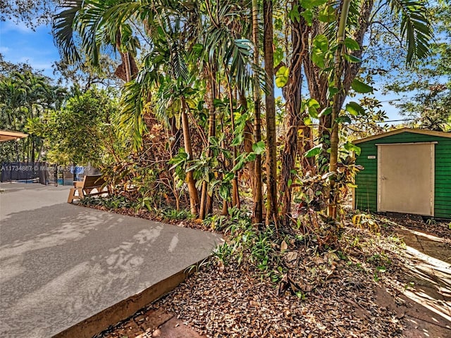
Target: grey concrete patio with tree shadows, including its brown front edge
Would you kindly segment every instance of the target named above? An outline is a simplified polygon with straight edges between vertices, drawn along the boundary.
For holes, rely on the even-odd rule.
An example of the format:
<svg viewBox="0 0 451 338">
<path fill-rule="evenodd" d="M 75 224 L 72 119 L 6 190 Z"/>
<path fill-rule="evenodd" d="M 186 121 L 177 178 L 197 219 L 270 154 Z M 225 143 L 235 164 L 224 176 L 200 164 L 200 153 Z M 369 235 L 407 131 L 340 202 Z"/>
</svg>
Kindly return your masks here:
<svg viewBox="0 0 451 338">
<path fill-rule="evenodd" d="M 175 287 L 220 238 L 0 184 L 0 337 L 92 337 Z"/>
</svg>

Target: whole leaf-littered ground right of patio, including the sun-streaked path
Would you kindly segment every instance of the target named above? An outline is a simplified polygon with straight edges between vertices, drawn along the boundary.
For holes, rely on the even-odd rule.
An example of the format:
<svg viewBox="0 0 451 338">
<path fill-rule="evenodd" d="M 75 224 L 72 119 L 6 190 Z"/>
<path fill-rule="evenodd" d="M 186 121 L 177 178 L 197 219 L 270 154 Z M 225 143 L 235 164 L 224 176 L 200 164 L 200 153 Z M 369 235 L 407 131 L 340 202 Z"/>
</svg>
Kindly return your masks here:
<svg viewBox="0 0 451 338">
<path fill-rule="evenodd" d="M 96 337 L 450 338 L 448 223 L 373 217 L 383 234 L 350 228 L 360 243 L 350 245 L 347 261 L 288 251 L 301 297 L 278 293 L 256 271 L 211 264 Z"/>
</svg>

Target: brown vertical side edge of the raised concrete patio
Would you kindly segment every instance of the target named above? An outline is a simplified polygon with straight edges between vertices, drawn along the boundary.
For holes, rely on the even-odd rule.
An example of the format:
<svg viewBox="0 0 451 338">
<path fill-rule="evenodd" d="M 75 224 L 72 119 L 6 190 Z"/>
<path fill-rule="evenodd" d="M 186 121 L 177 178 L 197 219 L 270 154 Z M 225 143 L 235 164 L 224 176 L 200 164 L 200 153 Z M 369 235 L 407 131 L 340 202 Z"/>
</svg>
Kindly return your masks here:
<svg viewBox="0 0 451 338">
<path fill-rule="evenodd" d="M 187 269 L 184 269 L 175 275 L 166 278 L 166 280 L 161 280 L 152 285 L 143 292 L 140 292 L 140 294 L 135 294 L 128 299 L 124 299 L 123 301 L 106 308 L 104 311 L 69 327 L 63 332 L 55 334 L 52 338 L 92 338 L 94 334 L 106 330 L 110 325 L 114 325 L 121 320 L 125 320 L 147 304 L 152 303 L 168 292 L 171 292 L 175 287 L 178 287 L 188 275 L 190 275 L 190 273 L 187 272 Z"/>
</svg>

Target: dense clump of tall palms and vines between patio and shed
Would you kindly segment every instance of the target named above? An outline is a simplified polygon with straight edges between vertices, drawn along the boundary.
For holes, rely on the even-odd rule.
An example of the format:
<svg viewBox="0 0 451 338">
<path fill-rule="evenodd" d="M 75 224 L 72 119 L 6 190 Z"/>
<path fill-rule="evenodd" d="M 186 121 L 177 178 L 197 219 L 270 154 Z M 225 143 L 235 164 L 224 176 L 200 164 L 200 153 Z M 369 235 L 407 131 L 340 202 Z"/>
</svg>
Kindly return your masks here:
<svg viewBox="0 0 451 338">
<path fill-rule="evenodd" d="M 249 192 L 255 224 L 265 202 L 266 223 L 290 227 L 295 201 L 309 204 L 307 173 L 326 182 L 319 211 L 338 218 L 350 184 L 342 168 L 354 170 L 358 151 L 340 131 L 368 114 L 345 100 L 373 92 L 362 65 L 378 44 L 366 32 L 380 11 L 390 14 L 407 65 L 424 60 L 432 34 L 424 1 L 73 0 L 56 15 L 54 36 L 67 62 L 97 68 L 101 56 L 120 56 L 121 137 L 138 157 L 152 138 L 166 144 L 154 177 L 171 173 L 167 193 L 178 204 L 186 191 L 192 214 L 205 218 L 215 207 L 239 208 Z"/>
</svg>

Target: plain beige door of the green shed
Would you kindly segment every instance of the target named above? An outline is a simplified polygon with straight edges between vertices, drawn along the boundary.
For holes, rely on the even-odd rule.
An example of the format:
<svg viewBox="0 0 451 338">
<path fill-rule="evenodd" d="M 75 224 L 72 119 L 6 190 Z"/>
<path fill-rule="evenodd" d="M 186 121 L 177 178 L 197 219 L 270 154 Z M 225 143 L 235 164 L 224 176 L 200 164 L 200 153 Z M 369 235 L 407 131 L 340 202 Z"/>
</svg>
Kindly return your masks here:
<svg viewBox="0 0 451 338">
<path fill-rule="evenodd" d="M 434 215 L 433 143 L 378 144 L 378 211 Z"/>
</svg>

